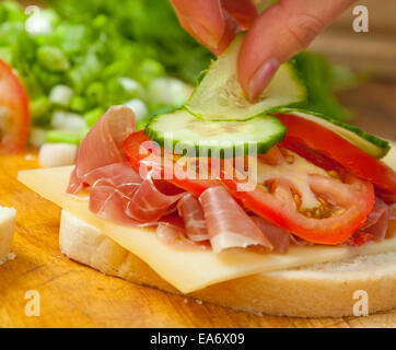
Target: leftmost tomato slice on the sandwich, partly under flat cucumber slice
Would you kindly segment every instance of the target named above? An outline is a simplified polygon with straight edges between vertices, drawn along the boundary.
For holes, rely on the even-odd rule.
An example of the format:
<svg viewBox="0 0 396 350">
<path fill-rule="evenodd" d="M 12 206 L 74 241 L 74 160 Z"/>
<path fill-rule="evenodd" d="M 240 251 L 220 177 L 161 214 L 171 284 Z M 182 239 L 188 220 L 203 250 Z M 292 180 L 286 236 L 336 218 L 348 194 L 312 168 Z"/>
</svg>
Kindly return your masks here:
<svg viewBox="0 0 396 350">
<path fill-rule="evenodd" d="M 137 172 L 155 172 L 159 178 L 166 179 L 173 185 L 196 195 L 202 194 L 211 186 L 219 185 L 216 179 L 199 179 L 197 173 L 189 173 L 184 178 L 175 176 L 175 173 L 184 173 L 173 154 L 163 148 L 155 147 L 143 131 L 131 133 L 124 141 L 124 151 L 129 163 Z"/>
</svg>

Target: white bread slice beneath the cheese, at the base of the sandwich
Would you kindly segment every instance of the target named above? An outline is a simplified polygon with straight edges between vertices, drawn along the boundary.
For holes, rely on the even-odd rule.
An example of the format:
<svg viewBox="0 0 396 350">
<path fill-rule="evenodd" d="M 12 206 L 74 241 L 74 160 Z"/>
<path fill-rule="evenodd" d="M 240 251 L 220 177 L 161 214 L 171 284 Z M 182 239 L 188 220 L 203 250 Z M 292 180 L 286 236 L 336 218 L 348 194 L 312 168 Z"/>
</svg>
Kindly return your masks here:
<svg viewBox="0 0 396 350">
<path fill-rule="evenodd" d="M 107 275 L 180 294 L 143 260 L 65 210 L 59 233 L 60 249 L 69 258 Z M 370 314 L 396 307 L 396 252 L 253 275 L 186 296 L 256 314 L 340 317 L 353 314 L 358 290 L 368 293 Z"/>
</svg>

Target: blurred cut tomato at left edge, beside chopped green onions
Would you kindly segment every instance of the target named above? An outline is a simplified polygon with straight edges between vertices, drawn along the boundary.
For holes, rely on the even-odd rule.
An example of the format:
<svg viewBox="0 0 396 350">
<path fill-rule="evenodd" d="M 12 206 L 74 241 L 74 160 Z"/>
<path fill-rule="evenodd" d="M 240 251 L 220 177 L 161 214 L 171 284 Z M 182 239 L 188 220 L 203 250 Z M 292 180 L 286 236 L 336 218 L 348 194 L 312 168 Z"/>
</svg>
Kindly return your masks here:
<svg viewBox="0 0 396 350">
<path fill-rule="evenodd" d="M 11 68 L 0 60 L 0 153 L 21 151 L 27 127 L 27 95 Z"/>
</svg>

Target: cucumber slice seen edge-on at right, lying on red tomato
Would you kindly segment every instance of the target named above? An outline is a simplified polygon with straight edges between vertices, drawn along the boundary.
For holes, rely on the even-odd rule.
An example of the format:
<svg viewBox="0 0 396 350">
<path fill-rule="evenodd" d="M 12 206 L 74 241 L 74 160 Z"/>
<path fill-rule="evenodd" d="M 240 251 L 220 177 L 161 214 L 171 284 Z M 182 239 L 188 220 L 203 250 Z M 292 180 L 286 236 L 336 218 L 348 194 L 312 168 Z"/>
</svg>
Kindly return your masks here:
<svg viewBox="0 0 396 350">
<path fill-rule="evenodd" d="M 360 148 L 365 153 L 369 153 L 377 159 L 385 156 L 391 149 L 391 145 L 387 141 L 378 139 L 377 137 L 368 132 L 364 132 L 363 130 L 354 126 L 345 124 L 337 119 L 333 119 L 316 112 L 300 108 L 281 107 L 275 109 L 273 113 L 292 114 L 300 118 L 317 122 L 324 128 L 336 132 L 341 138 Z"/>
</svg>

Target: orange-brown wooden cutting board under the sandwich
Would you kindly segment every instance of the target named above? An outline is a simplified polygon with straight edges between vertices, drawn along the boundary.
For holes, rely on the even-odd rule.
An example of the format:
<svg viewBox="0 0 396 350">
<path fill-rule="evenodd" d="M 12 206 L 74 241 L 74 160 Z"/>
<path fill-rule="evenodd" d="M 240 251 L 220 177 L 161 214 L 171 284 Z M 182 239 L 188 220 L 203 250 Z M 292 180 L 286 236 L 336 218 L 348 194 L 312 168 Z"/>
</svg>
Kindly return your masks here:
<svg viewBox="0 0 396 350">
<path fill-rule="evenodd" d="M 0 266 L 0 327 L 396 327 L 396 311 L 369 317 L 302 319 L 256 316 L 104 276 L 62 256 L 60 209 L 16 180 L 37 167 L 34 153 L 0 156 L 0 203 L 18 211 L 12 250 Z M 40 316 L 26 316 L 27 291 Z"/>
</svg>

